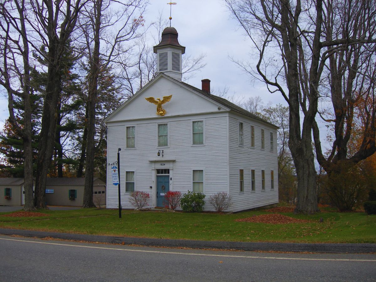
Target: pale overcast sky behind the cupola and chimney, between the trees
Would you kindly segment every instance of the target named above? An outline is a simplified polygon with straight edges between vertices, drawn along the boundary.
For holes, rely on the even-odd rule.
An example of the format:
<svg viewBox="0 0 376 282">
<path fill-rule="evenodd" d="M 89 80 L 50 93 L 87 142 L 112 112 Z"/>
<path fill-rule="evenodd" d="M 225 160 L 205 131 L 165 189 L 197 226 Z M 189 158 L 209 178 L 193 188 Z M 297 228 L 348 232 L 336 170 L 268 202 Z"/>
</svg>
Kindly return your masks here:
<svg viewBox="0 0 376 282">
<path fill-rule="evenodd" d="M 146 23 L 156 21 L 159 12 L 165 18 L 170 16 L 170 5 L 166 0 L 150 0 L 147 13 L 144 15 Z M 229 94 L 244 97 L 261 96 L 265 103 L 282 103 L 283 97 L 279 93 L 270 94 L 265 86 L 252 85 L 249 77 L 242 74 L 241 70 L 230 61 L 229 56 L 236 59 L 247 60 L 252 48 L 251 43 L 237 29 L 237 22 L 230 18 L 224 1 L 218 0 L 176 0 L 177 5 L 172 5 L 171 26 L 179 33 L 179 42 L 186 47 L 185 54 L 198 56 L 206 54 L 204 67 L 187 83 L 201 88 L 202 79 L 210 79 L 211 87 L 223 89 L 229 87 Z M 185 56 L 185 55 L 183 55 Z M 0 97 L 0 130 L 8 117 L 8 102 L 4 89 Z"/>
</svg>

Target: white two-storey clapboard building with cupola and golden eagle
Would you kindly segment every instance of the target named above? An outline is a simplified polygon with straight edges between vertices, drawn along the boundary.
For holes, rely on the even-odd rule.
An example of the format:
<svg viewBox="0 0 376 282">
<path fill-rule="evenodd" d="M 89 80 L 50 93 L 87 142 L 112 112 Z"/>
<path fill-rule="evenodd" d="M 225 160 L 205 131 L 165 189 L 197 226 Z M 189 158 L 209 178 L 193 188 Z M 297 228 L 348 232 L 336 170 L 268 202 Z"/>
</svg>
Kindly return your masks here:
<svg viewBox="0 0 376 282">
<path fill-rule="evenodd" d="M 169 190 L 204 193 L 206 211 L 218 192 L 231 196 L 229 211 L 278 203 L 278 127 L 211 95 L 208 79 L 202 89 L 182 82 L 185 47 L 173 27 L 154 52 L 158 75 L 105 120 L 107 208 L 118 207 L 111 173 L 118 148 L 123 208 L 133 208 L 137 190 L 149 193 L 149 207 L 165 206 Z"/>
</svg>

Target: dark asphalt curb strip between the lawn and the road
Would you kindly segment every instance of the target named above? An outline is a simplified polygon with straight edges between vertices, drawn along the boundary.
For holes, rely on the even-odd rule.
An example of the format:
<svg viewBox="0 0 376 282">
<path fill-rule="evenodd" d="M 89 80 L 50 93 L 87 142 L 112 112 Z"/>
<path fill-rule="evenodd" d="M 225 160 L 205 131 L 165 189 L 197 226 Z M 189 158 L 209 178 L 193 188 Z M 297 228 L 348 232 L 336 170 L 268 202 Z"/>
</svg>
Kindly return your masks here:
<svg viewBox="0 0 376 282">
<path fill-rule="evenodd" d="M 305 244 L 172 240 L 156 238 L 131 238 L 88 234 L 71 234 L 0 228 L 0 234 L 24 237 L 51 237 L 63 240 L 88 241 L 153 247 L 188 247 L 194 249 L 223 249 L 244 251 L 314 252 L 314 253 L 376 253 L 376 244 Z"/>
</svg>

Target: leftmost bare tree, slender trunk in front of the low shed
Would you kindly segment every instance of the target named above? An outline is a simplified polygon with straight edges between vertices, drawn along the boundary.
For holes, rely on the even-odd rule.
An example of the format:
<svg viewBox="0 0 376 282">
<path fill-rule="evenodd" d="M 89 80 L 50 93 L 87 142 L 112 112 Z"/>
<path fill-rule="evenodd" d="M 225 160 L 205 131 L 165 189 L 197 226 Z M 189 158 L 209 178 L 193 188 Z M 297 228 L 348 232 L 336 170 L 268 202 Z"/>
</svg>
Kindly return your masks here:
<svg viewBox="0 0 376 282">
<path fill-rule="evenodd" d="M 35 209 L 32 169 L 32 115 L 30 105 L 30 51 L 29 33 L 26 28 L 25 1 L 0 3 L 0 85 L 8 93 L 9 122 L 21 136 L 24 152 L 25 211 Z M 15 99 L 21 99 L 23 112 L 17 116 Z M 22 122 L 20 123 L 20 119 Z"/>
</svg>

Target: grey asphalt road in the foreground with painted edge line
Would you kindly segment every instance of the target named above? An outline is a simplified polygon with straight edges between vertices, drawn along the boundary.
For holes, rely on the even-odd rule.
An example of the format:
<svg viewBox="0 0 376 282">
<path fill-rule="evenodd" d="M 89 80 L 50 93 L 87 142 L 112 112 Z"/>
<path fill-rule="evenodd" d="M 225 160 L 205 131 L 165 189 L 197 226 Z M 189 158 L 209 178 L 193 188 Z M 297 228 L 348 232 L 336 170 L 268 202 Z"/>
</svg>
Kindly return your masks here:
<svg viewBox="0 0 376 282">
<path fill-rule="evenodd" d="M 1 281 L 375 281 L 375 254 L 260 253 L 0 235 Z"/>
</svg>

